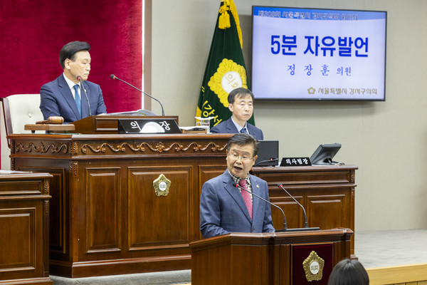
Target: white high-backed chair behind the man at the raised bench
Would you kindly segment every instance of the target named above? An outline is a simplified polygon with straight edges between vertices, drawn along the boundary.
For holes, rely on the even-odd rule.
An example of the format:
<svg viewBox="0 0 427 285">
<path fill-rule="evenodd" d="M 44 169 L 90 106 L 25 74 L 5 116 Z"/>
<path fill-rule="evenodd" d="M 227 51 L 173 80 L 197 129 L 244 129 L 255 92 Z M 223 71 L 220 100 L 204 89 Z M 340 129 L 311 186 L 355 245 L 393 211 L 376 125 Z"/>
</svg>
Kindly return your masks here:
<svg viewBox="0 0 427 285">
<path fill-rule="evenodd" d="M 1 115 L 1 169 L 11 169 L 10 142 L 6 135 L 12 133 L 31 133 L 24 130 L 26 124 L 33 124 L 43 120 L 40 110 L 40 94 L 16 94 L 6 98 L 0 98 L 2 108 Z M 44 132 L 40 132 L 44 133 Z"/>
</svg>

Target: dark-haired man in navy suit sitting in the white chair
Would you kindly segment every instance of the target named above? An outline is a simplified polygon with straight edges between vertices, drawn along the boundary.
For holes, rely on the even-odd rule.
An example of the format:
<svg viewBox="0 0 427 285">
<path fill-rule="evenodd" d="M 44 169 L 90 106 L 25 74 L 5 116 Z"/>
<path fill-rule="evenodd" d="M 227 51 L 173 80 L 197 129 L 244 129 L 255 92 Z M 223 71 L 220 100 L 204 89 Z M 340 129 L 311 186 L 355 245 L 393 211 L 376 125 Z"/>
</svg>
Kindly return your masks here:
<svg viewBox="0 0 427 285">
<path fill-rule="evenodd" d="M 45 120 L 61 116 L 64 123 L 73 123 L 90 115 L 107 113 L 100 86 L 87 81 L 89 50 L 89 43 L 85 41 L 72 41 L 61 48 L 59 63 L 64 72 L 40 90 L 40 109 Z"/>
</svg>

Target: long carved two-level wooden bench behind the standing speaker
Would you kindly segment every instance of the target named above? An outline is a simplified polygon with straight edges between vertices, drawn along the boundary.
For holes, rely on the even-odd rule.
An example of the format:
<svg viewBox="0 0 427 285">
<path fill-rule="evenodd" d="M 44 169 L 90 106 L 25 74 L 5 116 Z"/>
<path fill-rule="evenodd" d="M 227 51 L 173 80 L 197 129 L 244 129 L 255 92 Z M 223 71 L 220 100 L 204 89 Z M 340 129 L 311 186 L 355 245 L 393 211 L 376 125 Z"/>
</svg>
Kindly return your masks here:
<svg viewBox="0 0 427 285">
<path fill-rule="evenodd" d="M 85 277 L 190 269 L 189 243 L 201 239 L 201 186 L 226 170 L 231 136 L 9 135 L 12 169 L 53 175 L 51 274 Z M 310 226 L 354 229 L 357 167 L 282 168 L 255 167 L 254 173 L 269 182 L 270 199 L 283 206 L 290 227 L 300 224 L 302 212 L 273 181 L 282 182 L 302 204 L 310 204 Z M 156 195 L 153 182 L 160 175 L 171 182 L 168 195 Z M 325 209 L 325 199 L 332 210 Z M 280 228 L 283 218 L 272 212 Z"/>
</svg>

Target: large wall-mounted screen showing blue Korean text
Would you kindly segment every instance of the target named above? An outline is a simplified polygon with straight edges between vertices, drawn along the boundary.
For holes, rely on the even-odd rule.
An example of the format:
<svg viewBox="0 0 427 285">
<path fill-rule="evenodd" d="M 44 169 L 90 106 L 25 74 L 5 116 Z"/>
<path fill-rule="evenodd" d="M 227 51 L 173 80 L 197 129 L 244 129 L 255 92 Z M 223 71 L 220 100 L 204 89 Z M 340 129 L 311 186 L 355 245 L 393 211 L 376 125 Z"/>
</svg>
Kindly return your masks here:
<svg viewBox="0 0 427 285">
<path fill-rule="evenodd" d="M 261 100 L 385 100 L 386 11 L 253 6 Z"/>
</svg>

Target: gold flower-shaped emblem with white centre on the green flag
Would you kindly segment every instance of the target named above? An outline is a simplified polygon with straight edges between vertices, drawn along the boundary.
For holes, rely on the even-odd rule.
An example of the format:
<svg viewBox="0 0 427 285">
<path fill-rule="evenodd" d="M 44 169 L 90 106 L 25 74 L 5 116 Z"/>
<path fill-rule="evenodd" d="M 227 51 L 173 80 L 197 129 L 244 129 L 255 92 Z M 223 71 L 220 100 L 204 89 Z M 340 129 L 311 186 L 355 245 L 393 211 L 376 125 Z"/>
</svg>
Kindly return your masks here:
<svg viewBox="0 0 427 285">
<path fill-rule="evenodd" d="M 228 108 L 228 93 L 239 87 L 248 88 L 246 69 L 231 59 L 224 58 L 214 76 L 211 76 L 208 86 L 218 95 L 224 107 Z"/>
</svg>

